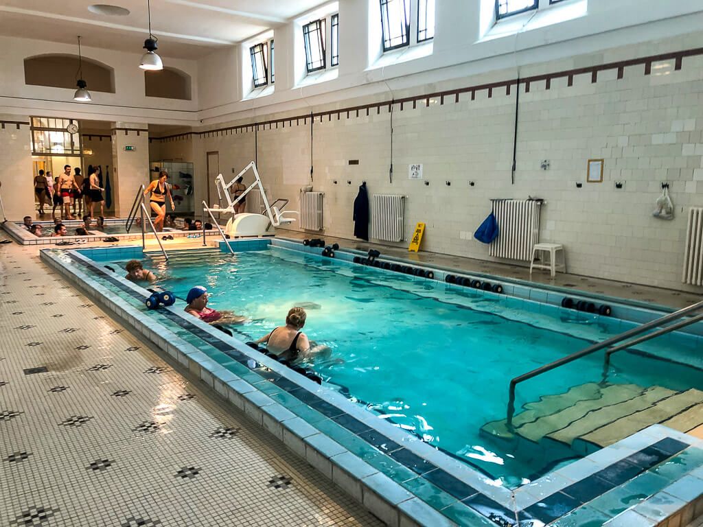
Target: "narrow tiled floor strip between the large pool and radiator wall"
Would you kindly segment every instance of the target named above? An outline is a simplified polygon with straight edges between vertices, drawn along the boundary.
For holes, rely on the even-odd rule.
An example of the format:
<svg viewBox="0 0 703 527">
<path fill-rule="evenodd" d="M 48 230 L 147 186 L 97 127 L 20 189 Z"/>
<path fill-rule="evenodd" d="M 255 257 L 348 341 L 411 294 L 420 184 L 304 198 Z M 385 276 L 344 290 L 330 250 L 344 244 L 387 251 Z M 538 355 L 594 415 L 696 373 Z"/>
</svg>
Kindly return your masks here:
<svg viewBox="0 0 703 527">
<path fill-rule="evenodd" d="M 295 230 L 278 228 L 276 233 L 284 238 L 315 238 L 309 233 L 299 233 Z M 390 247 L 376 243 L 364 242 L 363 240 L 346 240 L 344 238 L 334 238 L 332 236 L 321 236 L 328 245 L 337 242 L 342 247 L 368 251 L 368 249 L 378 249 L 382 254 L 395 256 L 397 258 L 423 262 L 443 268 L 456 269 L 458 271 L 486 273 L 489 275 L 503 276 L 505 278 L 515 278 L 536 284 L 553 285 L 568 289 L 580 289 L 594 294 L 605 294 L 611 297 L 630 299 L 645 303 L 655 303 L 671 308 L 683 308 L 690 306 L 700 300 L 695 293 L 674 291 L 673 289 L 662 289 L 660 287 L 650 287 L 646 285 L 628 284 L 616 282 L 614 280 L 602 280 L 588 276 L 572 275 L 568 273 L 557 273 L 555 278 L 551 278 L 548 271 L 534 271 L 532 276 L 529 268 L 510 265 L 508 263 L 498 263 L 493 261 L 464 258 L 462 256 L 449 256 L 433 252 L 420 251 L 418 253 L 408 252 L 406 247 Z"/>
</svg>

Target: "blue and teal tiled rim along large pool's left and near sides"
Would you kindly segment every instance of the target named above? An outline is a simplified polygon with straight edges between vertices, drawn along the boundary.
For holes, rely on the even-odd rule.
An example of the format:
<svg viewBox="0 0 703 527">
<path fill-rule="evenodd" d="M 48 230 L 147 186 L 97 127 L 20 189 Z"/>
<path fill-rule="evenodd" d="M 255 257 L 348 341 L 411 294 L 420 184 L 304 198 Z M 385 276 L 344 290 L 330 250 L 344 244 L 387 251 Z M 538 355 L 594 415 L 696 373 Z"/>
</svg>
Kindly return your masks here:
<svg viewBox="0 0 703 527">
<path fill-rule="evenodd" d="M 257 245 L 268 245 L 269 243 L 269 240 L 248 240 L 249 243 L 252 241 Z M 243 240 L 243 243 L 246 242 L 247 240 Z M 239 248 L 243 249 L 244 246 L 238 246 Z M 120 277 L 105 273 L 96 264 L 91 263 L 91 260 L 84 254 L 81 254 L 82 252 L 84 251 L 69 251 L 68 253 L 74 261 L 102 273 L 105 278 L 118 285 L 122 291 L 132 297 L 143 299 L 148 295 L 146 289 L 131 284 Z M 405 521 L 411 519 L 413 523 L 419 525 L 441 525 L 442 523 L 438 523 L 437 518 L 439 517 L 447 525 L 451 525 L 453 521 L 465 525 L 497 524 L 505 526 L 511 524 L 509 523 L 511 518 L 514 521 L 517 513 L 517 517 L 522 521 L 521 526 L 530 525 L 525 521 L 531 520 L 534 520 L 531 525 L 537 526 L 541 524 L 536 523 L 537 521 L 550 519 L 555 512 L 563 512 L 560 514 L 562 516 L 583 508 L 586 502 L 579 501 L 578 498 L 574 498 L 564 491 L 581 481 L 588 481 L 588 478 L 600 477 L 595 474 L 595 469 L 601 476 L 605 474 L 610 478 L 610 483 L 619 486 L 627 483 L 627 478 L 634 477 L 631 471 L 617 471 L 619 464 L 626 463 L 626 467 L 630 467 L 630 465 L 635 467 L 636 465 L 628 462 L 626 458 L 640 453 L 640 450 L 652 448 L 652 445 L 664 438 L 679 441 L 680 445 L 684 445 L 682 448 L 690 448 L 688 445 L 702 446 L 701 442 L 692 436 L 678 434 L 666 429 L 666 427 L 655 425 L 635 434 L 636 438 L 631 436 L 635 439 L 628 438 L 630 439 L 629 443 L 626 443 L 627 439 L 621 442 L 623 444 L 615 443 L 612 447 L 599 450 L 592 456 L 565 467 L 562 472 L 563 484 L 553 488 L 547 488 L 545 485 L 543 488 L 548 492 L 547 494 L 529 495 L 527 489 L 524 488 L 519 488 L 511 493 L 505 488 L 493 486 L 491 480 L 467 465 L 435 450 L 430 445 L 419 441 L 418 438 L 392 427 L 391 424 L 356 407 L 339 394 L 321 388 L 309 379 L 305 379 L 276 361 L 250 349 L 240 341 L 226 337 L 200 320 L 183 318 L 180 311 L 176 311 L 174 308 L 162 308 L 162 310 L 165 315 L 169 317 L 173 315 L 182 319 L 183 324 L 195 327 L 198 334 L 202 334 L 212 341 L 219 341 L 224 347 L 229 347 L 240 354 L 243 363 L 247 360 L 256 360 L 271 372 L 275 372 L 278 379 L 283 379 L 285 382 L 276 384 L 276 380 L 269 382 L 264 377 L 257 380 L 256 376 L 245 380 L 210 360 L 205 353 L 195 349 L 192 344 L 183 339 L 164 339 L 153 331 L 152 323 L 137 327 L 143 318 L 138 309 L 127 305 L 126 302 L 116 301 L 114 293 L 108 292 L 103 285 L 93 280 L 89 275 L 82 273 L 81 270 L 65 266 L 56 256 L 58 253 L 60 252 L 56 249 L 41 251 L 41 257 L 51 266 L 57 267 L 58 271 L 79 288 L 89 292 L 92 290 L 91 296 L 94 297 L 95 293 L 98 293 L 98 298 L 96 298 L 98 303 L 105 304 L 109 311 L 115 313 L 122 320 L 126 320 L 127 325 L 136 327 L 155 346 L 178 360 L 181 365 L 197 373 L 198 377 L 217 393 L 221 395 L 227 393 L 228 399 L 233 404 L 245 410 L 247 415 L 274 436 L 282 438 L 291 450 L 304 457 L 356 499 L 361 496 L 363 504 L 374 514 L 385 519 L 389 525 L 399 525 L 401 517 Z M 177 348 L 176 343 L 178 343 Z M 262 389 L 270 389 L 272 386 L 276 386 L 280 391 L 276 393 L 262 391 Z M 288 389 L 285 389 L 286 387 Z M 285 402 L 287 398 L 280 396 L 281 393 L 287 393 L 289 401 L 290 398 L 299 397 L 301 394 L 307 393 L 307 395 L 299 398 L 297 406 L 287 407 Z M 307 422 L 295 410 L 303 405 L 307 405 L 311 411 L 317 412 L 322 416 L 322 419 L 319 422 Z M 303 414 L 304 412 L 299 413 Z M 338 415 L 333 416 L 333 413 L 338 413 Z M 368 434 L 366 431 L 361 433 L 365 436 L 353 434 L 350 428 L 341 426 L 344 424 L 344 420 L 340 422 L 339 415 L 348 416 L 347 426 L 363 424 L 363 427 L 373 429 L 377 434 L 375 438 L 377 445 L 379 438 L 385 443 L 399 445 L 398 449 L 392 450 L 392 453 L 396 453 L 396 455 L 389 455 L 380 448 L 375 448 L 373 443 L 369 443 L 366 450 L 361 448 L 359 438 L 370 437 L 373 439 L 374 434 Z M 321 423 L 325 423 L 325 426 L 323 427 Z M 358 449 L 355 448 L 357 446 L 359 446 Z M 364 453 L 373 453 L 373 456 L 366 457 Z M 394 469 L 396 473 L 399 468 L 403 468 L 408 479 L 403 480 L 401 477 L 398 481 L 397 478 L 394 479 L 394 474 L 387 474 L 382 468 L 373 467 L 371 463 L 378 461 L 380 456 L 385 456 L 386 466 L 396 467 Z M 659 458 L 654 457 L 653 459 Z M 581 465 L 583 471 L 580 470 Z M 643 473 L 652 467 L 638 465 L 637 473 Z M 531 488 L 537 488 L 543 483 L 546 483 L 545 479 L 538 479 L 531 485 Z M 544 512 L 542 509 L 545 508 L 548 508 L 550 512 Z M 536 516 L 541 516 L 541 519 Z M 552 519 L 557 520 L 560 516 L 555 516 Z M 496 521 L 491 521 L 491 519 Z"/>
</svg>

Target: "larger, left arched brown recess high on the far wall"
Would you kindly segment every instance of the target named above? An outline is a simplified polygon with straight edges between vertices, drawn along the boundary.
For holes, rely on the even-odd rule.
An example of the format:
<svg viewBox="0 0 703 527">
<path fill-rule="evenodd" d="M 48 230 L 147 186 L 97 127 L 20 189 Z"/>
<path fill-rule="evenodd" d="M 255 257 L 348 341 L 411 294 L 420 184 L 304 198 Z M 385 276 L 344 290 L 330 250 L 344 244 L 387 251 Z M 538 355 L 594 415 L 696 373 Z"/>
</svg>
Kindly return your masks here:
<svg viewBox="0 0 703 527">
<path fill-rule="evenodd" d="M 25 58 L 25 84 L 76 88 L 77 55 L 37 55 Z M 115 70 L 83 57 L 83 79 L 90 91 L 115 93 Z"/>
</svg>

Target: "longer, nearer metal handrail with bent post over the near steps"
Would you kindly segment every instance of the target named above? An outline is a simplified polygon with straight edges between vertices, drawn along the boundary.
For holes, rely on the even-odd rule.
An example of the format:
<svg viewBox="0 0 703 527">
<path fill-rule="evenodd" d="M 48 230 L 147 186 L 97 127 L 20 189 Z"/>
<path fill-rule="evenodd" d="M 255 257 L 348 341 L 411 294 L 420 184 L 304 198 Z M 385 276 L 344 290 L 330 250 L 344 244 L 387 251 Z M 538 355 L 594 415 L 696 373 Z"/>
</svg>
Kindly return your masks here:
<svg viewBox="0 0 703 527">
<path fill-rule="evenodd" d="M 692 304 L 683 309 L 679 309 L 678 311 L 674 311 L 673 313 L 669 313 L 669 315 L 664 315 L 661 318 L 651 320 L 650 322 L 647 322 L 643 325 L 639 325 L 638 327 L 633 327 L 631 330 L 615 335 L 614 337 L 610 337 L 610 339 L 606 339 L 602 342 L 599 342 L 598 344 L 588 346 L 588 348 L 582 349 L 581 351 L 576 351 L 576 353 L 572 353 L 571 355 L 567 355 L 566 357 L 557 359 L 552 363 L 540 366 L 532 370 L 531 372 L 527 372 L 523 375 L 515 377 L 510 381 L 510 394 L 508 396 L 508 428 L 512 427 L 512 416 L 515 414 L 515 386 L 517 386 L 517 384 L 519 384 L 520 382 L 527 381 L 528 379 L 532 379 L 533 377 L 537 377 L 538 375 L 541 375 L 543 373 L 550 372 L 551 370 L 554 370 L 557 367 L 571 363 L 578 358 L 591 355 L 591 353 L 595 353 L 596 351 L 605 349 L 609 346 L 612 346 L 613 344 L 618 344 L 619 342 L 629 339 L 630 337 L 636 337 L 637 335 L 647 330 L 651 330 L 654 327 L 659 327 L 664 323 L 671 322 L 672 320 L 678 320 L 679 318 L 688 315 L 689 313 L 693 313 L 694 311 L 698 311 L 702 308 L 703 301 L 697 302 L 696 304 Z M 648 334 L 646 335 L 646 337 L 648 338 L 640 339 L 638 340 L 638 343 L 648 340 L 650 338 L 657 337 L 658 335 L 659 334 L 654 333 Z M 631 345 L 632 344 L 628 344 L 628 346 Z"/>
</svg>

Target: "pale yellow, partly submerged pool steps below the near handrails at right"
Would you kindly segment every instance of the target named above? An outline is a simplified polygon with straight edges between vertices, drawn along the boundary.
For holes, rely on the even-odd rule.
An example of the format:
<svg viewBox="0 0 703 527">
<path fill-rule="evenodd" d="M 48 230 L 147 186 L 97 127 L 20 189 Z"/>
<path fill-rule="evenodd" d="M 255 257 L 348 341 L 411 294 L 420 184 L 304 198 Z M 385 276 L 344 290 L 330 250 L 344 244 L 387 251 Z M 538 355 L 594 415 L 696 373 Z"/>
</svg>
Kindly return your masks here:
<svg viewBox="0 0 703 527">
<path fill-rule="evenodd" d="M 703 424 L 703 391 L 596 383 L 527 403 L 513 418 L 484 424 L 482 436 L 501 443 L 558 443 L 588 455 L 652 424 L 688 432 Z M 522 448 L 526 448 L 522 445 Z"/>
</svg>

